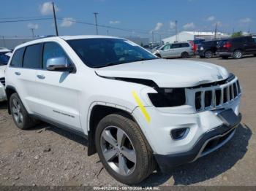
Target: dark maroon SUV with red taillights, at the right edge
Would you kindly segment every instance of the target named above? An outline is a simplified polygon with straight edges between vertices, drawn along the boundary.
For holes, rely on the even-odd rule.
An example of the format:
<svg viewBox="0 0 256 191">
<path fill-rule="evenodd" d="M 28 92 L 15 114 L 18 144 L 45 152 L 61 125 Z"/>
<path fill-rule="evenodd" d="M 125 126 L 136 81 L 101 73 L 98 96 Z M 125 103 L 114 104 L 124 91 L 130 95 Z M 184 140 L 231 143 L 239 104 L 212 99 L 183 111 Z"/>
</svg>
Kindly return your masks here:
<svg viewBox="0 0 256 191">
<path fill-rule="evenodd" d="M 222 41 L 217 46 L 217 55 L 222 58 L 242 58 L 243 55 L 256 55 L 256 36 L 241 36 Z"/>
</svg>

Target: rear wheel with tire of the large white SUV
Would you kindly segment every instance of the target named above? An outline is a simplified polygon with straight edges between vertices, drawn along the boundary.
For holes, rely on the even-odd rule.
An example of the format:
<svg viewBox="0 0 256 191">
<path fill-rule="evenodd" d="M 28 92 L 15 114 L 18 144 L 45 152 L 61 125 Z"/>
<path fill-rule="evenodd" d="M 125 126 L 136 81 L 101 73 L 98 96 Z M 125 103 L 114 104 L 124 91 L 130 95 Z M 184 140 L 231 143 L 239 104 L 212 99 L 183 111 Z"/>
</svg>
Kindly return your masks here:
<svg viewBox="0 0 256 191">
<path fill-rule="evenodd" d="M 29 114 L 26 112 L 26 109 L 20 101 L 17 93 L 13 93 L 10 96 L 9 104 L 12 112 L 12 119 L 18 128 L 25 130 L 36 124 L 36 121 L 29 117 Z"/>
</svg>

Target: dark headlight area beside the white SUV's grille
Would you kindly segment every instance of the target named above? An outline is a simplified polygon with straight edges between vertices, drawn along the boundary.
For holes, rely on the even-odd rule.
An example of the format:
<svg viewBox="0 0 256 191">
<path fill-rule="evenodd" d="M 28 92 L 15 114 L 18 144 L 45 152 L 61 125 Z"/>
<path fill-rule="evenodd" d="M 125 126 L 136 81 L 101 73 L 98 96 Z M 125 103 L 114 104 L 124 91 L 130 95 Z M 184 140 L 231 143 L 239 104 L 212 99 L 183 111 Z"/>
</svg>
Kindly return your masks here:
<svg viewBox="0 0 256 191">
<path fill-rule="evenodd" d="M 158 93 L 148 93 L 156 107 L 182 106 L 186 103 L 184 88 L 158 88 Z"/>
</svg>

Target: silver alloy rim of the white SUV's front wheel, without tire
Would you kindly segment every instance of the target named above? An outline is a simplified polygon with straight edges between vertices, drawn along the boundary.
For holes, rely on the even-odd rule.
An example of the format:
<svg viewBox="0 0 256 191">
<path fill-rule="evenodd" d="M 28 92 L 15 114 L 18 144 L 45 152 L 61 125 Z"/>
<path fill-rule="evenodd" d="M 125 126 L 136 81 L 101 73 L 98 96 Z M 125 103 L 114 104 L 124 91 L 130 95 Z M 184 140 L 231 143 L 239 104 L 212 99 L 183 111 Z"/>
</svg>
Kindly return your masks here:
<svg viewBox="0 0 256 191">
<path fill-rule="evenodd" d="M 110 168 L 122 176 L 135 171 L 136 152 L 127 133 L 116 126 L 102 130 L 100 147 Z"/>
</svg>

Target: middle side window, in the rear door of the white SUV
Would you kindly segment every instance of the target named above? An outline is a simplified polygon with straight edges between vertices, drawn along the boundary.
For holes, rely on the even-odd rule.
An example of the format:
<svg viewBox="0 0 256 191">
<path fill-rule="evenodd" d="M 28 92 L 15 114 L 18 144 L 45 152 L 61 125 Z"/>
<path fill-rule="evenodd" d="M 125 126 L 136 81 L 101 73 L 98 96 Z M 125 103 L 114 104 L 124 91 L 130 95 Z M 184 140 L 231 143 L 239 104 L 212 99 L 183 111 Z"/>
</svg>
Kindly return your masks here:
<svg viewBox="0 0 256 191">
<path fill-rule="evenodd" d="M 23 68 L 26 69 L 41 69 L 42 44 L 34 44 L 26 47 L 23 58 Z"/>
</svg>

